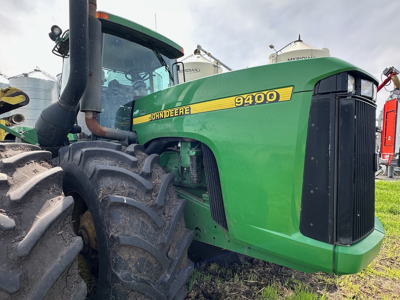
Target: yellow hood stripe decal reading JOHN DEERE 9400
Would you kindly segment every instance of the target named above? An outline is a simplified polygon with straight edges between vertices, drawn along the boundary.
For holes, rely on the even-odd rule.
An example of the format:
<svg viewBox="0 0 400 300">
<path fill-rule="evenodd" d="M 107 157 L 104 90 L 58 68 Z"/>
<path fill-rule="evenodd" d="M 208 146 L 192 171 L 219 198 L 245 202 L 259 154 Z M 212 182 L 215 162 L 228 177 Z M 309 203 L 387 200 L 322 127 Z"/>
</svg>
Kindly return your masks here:
<svg viewBox="0 0 400 300">
<path fill-rule="evenodd" d="M 240 108 L 246 106 L 261 105 L 273 102 L 288 101 L 292 97 L 293 86 L 288 88 L 278 88 L 276 90 L 266 90 L 251 94 L 232 96 L 217 100 L 210 100 L 176 108 L 153 112 L 133 119 L 133 124 L 142 124 L 154 120 L 198 114 L 200 112 L 211 112 L 227 108 Z"/>
</svg>

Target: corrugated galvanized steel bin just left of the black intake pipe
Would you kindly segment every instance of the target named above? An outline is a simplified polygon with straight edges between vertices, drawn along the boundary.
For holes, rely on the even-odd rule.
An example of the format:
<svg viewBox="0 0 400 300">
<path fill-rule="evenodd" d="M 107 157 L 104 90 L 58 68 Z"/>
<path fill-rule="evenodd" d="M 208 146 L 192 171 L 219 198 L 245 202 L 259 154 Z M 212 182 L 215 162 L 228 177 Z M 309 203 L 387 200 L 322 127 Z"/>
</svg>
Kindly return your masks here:
<svg viewBox="0 0 400 300">
<path fill-rule="evenodd" d="M 33 127 L 43 108 L 57 101 L 58 86 L 56 80 L 34 78 L 30 77 L 30 74 L 24 73 L 10 77 L 10 86 L 26 93 L 29 96 L 29 103 L 12 110 L 9 114 L 23 114 L 25 121 L 21 125 Z"/>
</svg>

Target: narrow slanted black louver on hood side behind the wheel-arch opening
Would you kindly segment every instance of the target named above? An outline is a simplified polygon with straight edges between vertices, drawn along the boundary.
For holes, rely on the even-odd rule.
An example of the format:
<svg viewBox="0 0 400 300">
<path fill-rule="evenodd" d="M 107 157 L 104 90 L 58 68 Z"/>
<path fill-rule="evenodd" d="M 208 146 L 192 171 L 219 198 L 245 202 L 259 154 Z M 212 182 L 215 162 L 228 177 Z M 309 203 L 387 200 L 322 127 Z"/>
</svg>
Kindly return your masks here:
<svg viewBox="0 0 400 300">
<path fill-rule="evenodd" d="M 211 149 L 206 144 L 202 143 L 202 149 L 204 166 L 206 168 L 208 197 L 210 198 L 211 217 L 214 222 L 228 231 L 217 162 Z"/>
</svg>

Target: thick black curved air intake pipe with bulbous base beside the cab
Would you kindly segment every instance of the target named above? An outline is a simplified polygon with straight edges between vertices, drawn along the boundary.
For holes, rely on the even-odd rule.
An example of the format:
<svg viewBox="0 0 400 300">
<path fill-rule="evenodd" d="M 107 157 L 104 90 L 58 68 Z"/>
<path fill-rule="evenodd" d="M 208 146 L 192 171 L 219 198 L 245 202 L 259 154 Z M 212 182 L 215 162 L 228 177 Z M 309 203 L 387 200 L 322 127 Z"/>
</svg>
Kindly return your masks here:
<svg viewBox="0 0 400 300">
<path fill-rule="evenodd" d="M 70 75 L 64 91 L 44 108 L 35 124 L 40 146 L 67 144 L 74 127 L 75 108 L 88 82 L 88 1 L 70 0 Z"/>
</svg>

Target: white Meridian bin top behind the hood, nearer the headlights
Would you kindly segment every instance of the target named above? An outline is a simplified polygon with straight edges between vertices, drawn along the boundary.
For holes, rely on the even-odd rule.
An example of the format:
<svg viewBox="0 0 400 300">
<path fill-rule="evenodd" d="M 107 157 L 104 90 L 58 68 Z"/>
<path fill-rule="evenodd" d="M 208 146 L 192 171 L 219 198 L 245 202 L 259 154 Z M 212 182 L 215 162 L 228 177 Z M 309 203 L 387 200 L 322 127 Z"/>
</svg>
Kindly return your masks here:
<svg viewBox="0 0 400 300">
<path fill-rule="evenodd" d="M 299 37 L 299 40 L 290 43 L 288 46 L 282 48 L 276 53 L 272 53 L 270 55 L 270 60 L 268 61 L 268 64 L 274 62 L 287 62 L 292 60 L 327 56 L 330 56 L 329 49 L 318 49 L 314 46 L 303 43 L 303 41 L 300 40 Z"/>
</svg>

